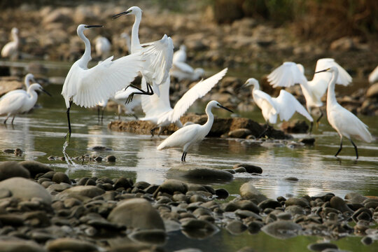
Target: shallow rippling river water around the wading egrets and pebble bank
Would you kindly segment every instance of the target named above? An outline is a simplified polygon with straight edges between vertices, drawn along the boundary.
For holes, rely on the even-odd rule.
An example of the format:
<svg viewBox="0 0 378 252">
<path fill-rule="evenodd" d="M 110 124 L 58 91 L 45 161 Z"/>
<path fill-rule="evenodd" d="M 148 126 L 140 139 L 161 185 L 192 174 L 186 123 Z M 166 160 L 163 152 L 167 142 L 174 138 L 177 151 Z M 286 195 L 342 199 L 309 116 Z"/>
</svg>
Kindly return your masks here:
<svg viewBox="0 0 378 252">
<path fill-rule="evenodd" d="M 181 149 L 156 151 L 156 147 L 165 137 L 151 138 L 149 135 L 113 132 L 107 129 L 107 123 L 116 120 L 116 111 L 105 111 L 104 124 L 99 125 L 96 110 L 80 109 L 77 106 L 71 109 L 73 134 L 66 149 L 67 155 L 76 157 L 93 153 L 105 157 L 111 154 L 116 156 L 116 162 L 73 161 L 73 165 L 67 165 L 61 160 L 49 161 L 50 155 L 62 157 L 67 127 L 64 100 L 60 95 L 61 86 L 49 85 L 46 90 L 53 97 L 41 95 L 38 104 L 42 108 L 16 117 L 14 126 L 0 124 L 0 161 L 38 160 L 52 165 L 57 171 L 66 172 L 71 178 L 126 176 L 134 181 L 158 184 L 169 179 L 167 170 L 170 167 L 183 165 L 180 162 Z M 201 112 L 202 106 L 193 107 L 191 110 Z M 230 116 L 229 113 L 219 112 L 216 111 L 218 116 Z M 251 116 L 254 120 L 263 122 L 258 110 L 247 115 L 244 113 L 243 116 Z M 3 119 L 4 117 L 0 118 L 1 121 Z M 123 116 L 123 120 L 125 119 L 132 120 Z M 377 136 L 377 118 L 361 119 L 370 127 L 370 132 Z M 247 162 L 262 167 L 263 173 L 260 176 L 237 174 L 233 181 L 227 183 L 195 181 L 211 184 L 214 188 L 225 188 L 232 196 L 236 196 L 241 184 L 247 181 L 252 181 L 256 188 L 270 198 L 288 194 L 316 195 L 323 192 L 332 192 L 339 197 L 344 197 L 349 192 L 378 195 L 377 141 L 370 144 L 356 141 L 360 155 L 356 161 L 353 146 L 348 141 L 344 141 L 339 158 L 333 156 L 339 148 L 339 137 L 328 125 L 326 118 L 323 118 L 321 125 L 313 133 L 311 137 L 316 139 L 315 146 L 304 148 L 265 148 L 249 146 L 235 139 L 205 139 L 190 150 L 185 165 L 225 169 Z M 293 137 L 302 138 L 308 135 L 297 134 Z M 106 146 L 112 151 L 91 151 L 90 148 L 94 146 Z M 6 148 L 20 148 L 24 155 L 15 157 L 13 154 L 3 153 Z M 289 176 L 295 176 L 299 181 L 284 180 Z M 377 251 L 377 241 L 366 247 L 359 239 L 349 237 L 332 242 L 349 251 Z M 286 248 L 285 251 L 306 251 L 306 246 L 317 240 L 321 238 L 300 236 L 282 241 L 263 232 L 258 235 L 244 232 L 242 235 L 232 236 L 222 230 L 209 239 L 197 242 L 195 239 L 188 239 L 181 232 L 172 232 L 167 241 L 167 249 L 178 249 L 177 244 L 180 244 L 180 248 L 197 247 L 202 251 L 236 251 L 243 246 L 252 246 L 255 251 L 281 251 L 279 248 L 282 247 Z"/>
</svg>

